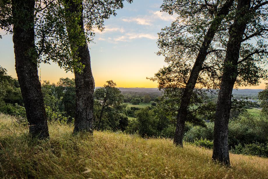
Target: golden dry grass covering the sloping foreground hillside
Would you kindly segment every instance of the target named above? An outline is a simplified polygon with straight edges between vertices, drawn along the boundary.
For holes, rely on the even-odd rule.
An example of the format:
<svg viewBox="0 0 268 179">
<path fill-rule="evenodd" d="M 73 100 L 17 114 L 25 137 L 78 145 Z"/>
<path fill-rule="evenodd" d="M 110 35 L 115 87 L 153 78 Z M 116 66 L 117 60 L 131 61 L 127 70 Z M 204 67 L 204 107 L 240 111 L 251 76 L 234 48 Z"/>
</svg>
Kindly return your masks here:
<svg viewBox="0 0 268 179">
<path fill-rule="evenodd" d="M 50 139 L 31 141 L 27 127 L 0 115 L 0 178 L 268 178 L 268 159 L 230 154 L 231 167 L 211 161 L 211 151 L 168 139 L 49 126 Z M 86 172 L 84 172 L 86 171 Z"/>
</svg>

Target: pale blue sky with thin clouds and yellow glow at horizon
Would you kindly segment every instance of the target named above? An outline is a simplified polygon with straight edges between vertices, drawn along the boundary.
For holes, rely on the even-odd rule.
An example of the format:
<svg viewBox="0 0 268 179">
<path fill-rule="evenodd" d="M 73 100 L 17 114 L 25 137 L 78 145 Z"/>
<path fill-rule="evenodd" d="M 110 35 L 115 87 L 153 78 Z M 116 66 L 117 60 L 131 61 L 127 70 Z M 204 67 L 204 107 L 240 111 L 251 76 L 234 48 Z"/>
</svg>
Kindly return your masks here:
<svg viewBox="0 0 268 179">
<path fill-rule="evenodd" d="M 95 31 L 94 43 L 89 44 L 95 86 L 103 86 L 105 81 L 113 80 L 117 87 L 157 87 L 157 82 L 146 79 L 166 65 L 164 57 L 156 55 L 157 33 L 176 18 L 160 12 L 162 3 L 163 0 L 125 2 L 124 8 L 117 10 L 116 17 L 105 21 L 103 32 Z M 4 34 L 1 29 L 0 34 Z M 17 77 L 11 34 L 0 39 L 0 65 L 7 69 L 9 75 Z M 57 83 L 61 77 L 74 77 L 55 63 L 40 64 L 38 70 L 42 81 Z M 241 88 L 264 89 L 265 82 L 260 86 Z"/>
</svg>

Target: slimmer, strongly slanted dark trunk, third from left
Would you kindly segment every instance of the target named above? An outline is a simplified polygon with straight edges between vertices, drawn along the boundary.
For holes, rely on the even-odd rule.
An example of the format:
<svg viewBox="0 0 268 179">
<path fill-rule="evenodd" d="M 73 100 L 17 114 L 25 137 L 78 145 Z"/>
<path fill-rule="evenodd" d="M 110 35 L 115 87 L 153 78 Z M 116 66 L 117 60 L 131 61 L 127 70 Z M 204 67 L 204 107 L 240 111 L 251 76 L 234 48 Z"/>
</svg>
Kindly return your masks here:
<svg viewBox="0 0 268 179">
<path fill-rule="evenodd" d="M 182 139 L 184 133 L 184 125 L 188 115 L 188 106 L 190 104 L 191 96 L 193 94 L 193 90 L 195 88 L 196 81 L 198 79 L 199 73 L 202 70 L 202 65 L 207 57 L 207 50 L 209 45 L 211 44 L 212 39 L 215 36 L 215 33 L 218 31 L 218 28 L 223 20 L 223 18 L 228 15 L 229 9 L 232 6 L 234 0 L 227 0 L 223 7 L 218 11 L 215 15 L 214 20 L 211 22 L 211 25 L 207 31 L 207 34 L 204 36 L 204 41 L 199 50 L 198 56 L 195 60 L 195 64 L 191 71 L 190 77 L 187 81 L 187 84 L 184 88 L 181 104 L 177 114 L 177 125 L 176 131 L 174 135 L 173 143 L 177 146 L 183 146 Z"/>
</svg>

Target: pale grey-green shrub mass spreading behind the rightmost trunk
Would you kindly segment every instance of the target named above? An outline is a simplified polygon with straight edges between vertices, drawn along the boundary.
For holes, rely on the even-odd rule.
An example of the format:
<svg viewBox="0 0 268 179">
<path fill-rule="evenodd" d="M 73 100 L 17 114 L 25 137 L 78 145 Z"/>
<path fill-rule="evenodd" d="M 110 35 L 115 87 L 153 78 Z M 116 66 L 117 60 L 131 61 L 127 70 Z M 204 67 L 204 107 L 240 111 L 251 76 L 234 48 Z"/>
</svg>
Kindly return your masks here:
<svg viewBox="0 0 268 179">
<path fill-rule="evenodd" d="M 200 139 L 213 141 L 214 123 L 207 123 L 206 126 L 205 128 L 200 126 L 192 127 L 184 134 L 184 141 L 190 143 Z M 268 143 L 267 129 L 267 116 L 254 116 L 248 112 L 241 113 L 235 120 L 229 123 L 229 148 L 234 150 L 239 145 L 245 146 L 256 142 Z"/>
</svg>

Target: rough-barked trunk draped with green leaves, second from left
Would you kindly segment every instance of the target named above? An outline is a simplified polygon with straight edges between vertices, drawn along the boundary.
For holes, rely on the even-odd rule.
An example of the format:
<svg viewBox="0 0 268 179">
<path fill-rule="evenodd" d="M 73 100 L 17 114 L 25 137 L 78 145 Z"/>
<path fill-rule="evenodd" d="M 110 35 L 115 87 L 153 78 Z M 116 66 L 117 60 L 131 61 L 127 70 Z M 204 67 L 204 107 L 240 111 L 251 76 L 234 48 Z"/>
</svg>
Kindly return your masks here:
<svg viewBox="0 0 268 179">
<path fill-rule="evenodd" d="M 94 89 L 95 82 L 91 71 L 91 62 L 88 45 L 86 42 L 86 37 L 84 33 L 84 23 L 83 23 L 83 3 L 82 0 L 67 0 L 67 10 L 73 15 L 73 17 L 79 17 L 78 21 L 71 20 L 71 26 L 67 27 L 67 32 L 69 34 L 69 40 L 73 47 L 77 47 L 77 50 L 74 52 L 76 54 L 75 58 L 78 58 L 78 62 L 84 65 L 82 72 L 74 70 L 75 72 L 75 91 L 76 91 L 76 109 L 75 109 L 75 122 L 73 132 L 85 131 L 93 132 L 92 122 L 93 122 L 93 105 L 94 105 Z M 70 18 L 73 18 L 70 17 Z M 73 34 L 70 32 L 72 28 L 77 27 L 79 29 L 79 34 Z M 76 31 L 77 29 L 75 29 Z M 84 42 L 82 45 L 81 42 L 77 42 L 76 37 L 83 36 Z"/>
</svg>

